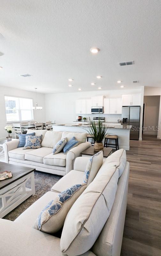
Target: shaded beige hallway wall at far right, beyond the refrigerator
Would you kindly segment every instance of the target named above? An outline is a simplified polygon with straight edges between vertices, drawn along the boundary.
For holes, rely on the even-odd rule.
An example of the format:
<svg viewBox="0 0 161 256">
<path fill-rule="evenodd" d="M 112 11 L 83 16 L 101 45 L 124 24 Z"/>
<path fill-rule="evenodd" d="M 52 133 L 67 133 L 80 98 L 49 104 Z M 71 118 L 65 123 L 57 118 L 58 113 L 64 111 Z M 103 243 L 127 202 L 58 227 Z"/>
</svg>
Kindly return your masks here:
<svg viewBox="0 0 161 256">
<path fill-rule="evenodd" d="M 144 127 L 147 129 L 143 131 L 143 134 L 157 135 L 160 96 L 144 96 L 144 104 Z"/>
</svg>

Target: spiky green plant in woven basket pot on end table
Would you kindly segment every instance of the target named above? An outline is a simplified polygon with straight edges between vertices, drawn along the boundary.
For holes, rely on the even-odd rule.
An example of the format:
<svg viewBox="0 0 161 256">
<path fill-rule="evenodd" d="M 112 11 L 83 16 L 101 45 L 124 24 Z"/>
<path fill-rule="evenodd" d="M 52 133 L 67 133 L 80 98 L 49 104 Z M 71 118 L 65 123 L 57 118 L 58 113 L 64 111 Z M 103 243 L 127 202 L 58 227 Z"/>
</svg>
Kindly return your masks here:
<svg viewBox="0 0 161 256">
<path fill-rule="evenodd" d="M 104 144 L 102 141 L 107 135 L 108 124 L 101 121 L 100 119 L 98 119 L 98 122 L 95 123 L 91 118 L 89 118 L 89 123 L 90 126 L 84 129 L 91 135 L 92 139 L 95 141 L 94 150 L 103 150 Z"/>
</svg>

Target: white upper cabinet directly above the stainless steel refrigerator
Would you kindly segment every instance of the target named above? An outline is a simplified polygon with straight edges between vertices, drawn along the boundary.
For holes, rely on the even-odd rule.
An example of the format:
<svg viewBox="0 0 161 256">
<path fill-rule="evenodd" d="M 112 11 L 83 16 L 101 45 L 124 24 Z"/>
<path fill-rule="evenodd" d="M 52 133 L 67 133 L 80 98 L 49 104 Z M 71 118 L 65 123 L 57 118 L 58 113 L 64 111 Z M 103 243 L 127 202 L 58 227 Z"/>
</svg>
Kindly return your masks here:
<svg viewBox="0 0 161 256">
<path fill-rule="evenodd" d="M 141 94 L 123 94 L 122 106 L 140 106 Z"/>
</svg>

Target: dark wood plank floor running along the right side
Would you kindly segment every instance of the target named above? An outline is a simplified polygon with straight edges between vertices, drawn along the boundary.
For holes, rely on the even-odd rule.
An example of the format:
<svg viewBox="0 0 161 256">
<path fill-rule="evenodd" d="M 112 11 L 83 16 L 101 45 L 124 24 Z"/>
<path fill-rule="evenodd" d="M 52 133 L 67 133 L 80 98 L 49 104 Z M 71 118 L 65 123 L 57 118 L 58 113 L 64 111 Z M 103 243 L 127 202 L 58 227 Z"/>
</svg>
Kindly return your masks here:
<svg viewBox="0 0 161 256">
<path fill-rule="evenodd" d="M 161 256 L 161 140 L 130 141 L 127 213 L 121 256 Z"/>
</svg>

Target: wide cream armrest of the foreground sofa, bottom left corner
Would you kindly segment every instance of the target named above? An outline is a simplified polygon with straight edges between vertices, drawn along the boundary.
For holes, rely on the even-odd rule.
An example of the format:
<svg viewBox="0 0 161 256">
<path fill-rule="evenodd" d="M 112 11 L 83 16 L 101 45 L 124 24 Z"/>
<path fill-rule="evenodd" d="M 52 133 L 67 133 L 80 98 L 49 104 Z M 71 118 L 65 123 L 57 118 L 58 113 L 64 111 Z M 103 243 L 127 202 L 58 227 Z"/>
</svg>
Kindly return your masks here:
<svg viewBox="0 0 161 256">
<path fill-rule="evenodd" d="M 62 255 L 58 237 L 11 220 L 0 219 L 0 227 L 0 256 Z"/>
</svg>

